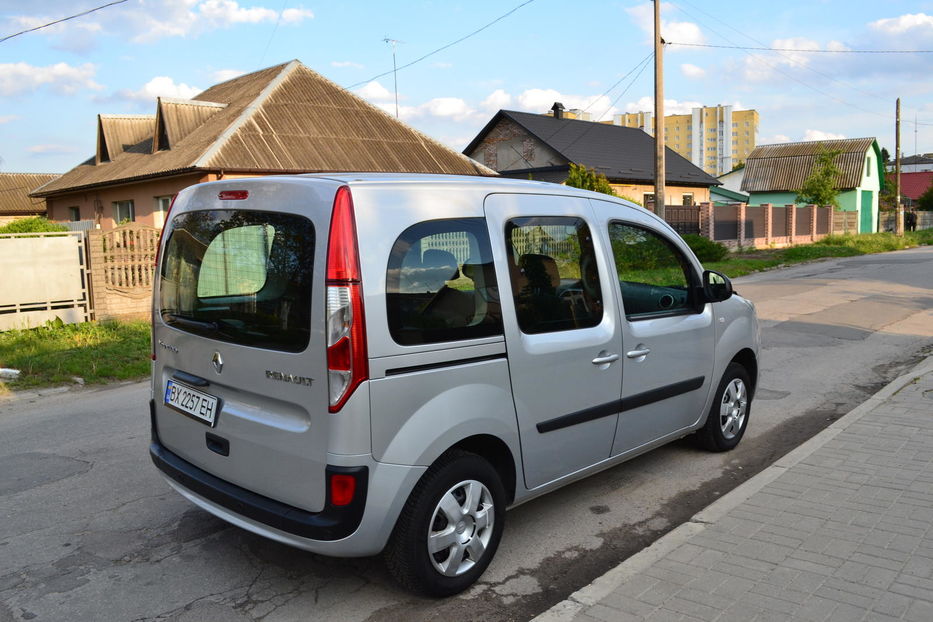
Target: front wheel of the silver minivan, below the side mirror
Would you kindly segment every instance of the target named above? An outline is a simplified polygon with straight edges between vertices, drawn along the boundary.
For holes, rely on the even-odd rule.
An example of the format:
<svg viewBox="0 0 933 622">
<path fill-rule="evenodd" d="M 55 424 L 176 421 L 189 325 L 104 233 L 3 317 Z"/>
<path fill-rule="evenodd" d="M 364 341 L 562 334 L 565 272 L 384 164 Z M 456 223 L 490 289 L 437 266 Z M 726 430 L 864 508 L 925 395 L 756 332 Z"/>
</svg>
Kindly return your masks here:
<svg viewBox="0 0 933 622">
<path fill-rule="evenodd" d="M 708 451 L 735 448 L 748 427 L 752 407 L 751 380 L 738 363 L 729 363 L 719 381 L 706 423 L 697 431 L 700 447 Z"/>
</svg>

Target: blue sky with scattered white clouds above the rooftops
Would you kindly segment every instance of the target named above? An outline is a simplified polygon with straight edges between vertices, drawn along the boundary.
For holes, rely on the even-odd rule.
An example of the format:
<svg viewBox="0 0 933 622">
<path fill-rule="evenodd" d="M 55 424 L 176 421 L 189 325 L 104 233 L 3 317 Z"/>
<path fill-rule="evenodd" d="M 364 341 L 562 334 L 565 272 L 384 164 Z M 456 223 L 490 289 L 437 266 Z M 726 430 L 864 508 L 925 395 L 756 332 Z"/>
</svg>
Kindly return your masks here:
<svg viewBox="0 0 933 622">
<path fill-rule="evenodd" d="M 0 0 L 0 38 L 106 1 Z M 0 171 L 64 172 L 94 153 L 98 113 L 154 114 L 156 96 L 192 97 L 291 59 L 394 114 L 392 75 L 371 80 L 392 68 L 383 38 L 401 41 L 403 65 L 522 2 L 128 0 L 0 43 Z M 933 50 L 933 1 L 673 0 L 662 9 L 674 44 Z M 500 108 L 650 110 L 652 67 L 632 70 L 651 52 L 651 11 L 641 0 L 533 0 L 399 71 L 401 117 L 459 150 Z M 933 54 L 671 45 L 664 63 L 668 113 L 755 108 L 759 144 L 876 136 L 893 153 L 900 96 L 902 150 L 933 151 Z"/>
</svg>

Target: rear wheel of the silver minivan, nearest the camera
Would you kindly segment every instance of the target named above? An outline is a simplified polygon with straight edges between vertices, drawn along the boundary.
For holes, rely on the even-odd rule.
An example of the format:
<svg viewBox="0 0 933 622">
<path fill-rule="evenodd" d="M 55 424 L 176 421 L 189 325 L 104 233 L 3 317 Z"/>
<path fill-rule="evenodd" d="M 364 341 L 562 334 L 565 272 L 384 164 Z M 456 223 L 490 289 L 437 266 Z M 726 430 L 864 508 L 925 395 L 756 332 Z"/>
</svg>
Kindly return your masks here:
<svg viewBox="0 0 933 622">
<path fill-rule="evenodd" d="M 499 474 L 480 456 L 447 452 L 421 477 L 385 550 L 389 573 L 427 596 L 467 589 L 499 546 L 506 496 Z"/>
</svg>

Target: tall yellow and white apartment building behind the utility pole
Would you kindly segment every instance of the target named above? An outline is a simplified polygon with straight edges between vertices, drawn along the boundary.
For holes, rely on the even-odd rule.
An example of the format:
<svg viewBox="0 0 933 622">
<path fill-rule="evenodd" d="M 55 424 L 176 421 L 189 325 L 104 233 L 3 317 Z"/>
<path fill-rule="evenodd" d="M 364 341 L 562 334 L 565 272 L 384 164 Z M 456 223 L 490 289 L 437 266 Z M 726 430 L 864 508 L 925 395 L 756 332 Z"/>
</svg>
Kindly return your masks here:
<svg viewBox="0 0 933 622">
<path fill-rule="evenodd" d="M 618 114 L 613 125 L 637 127 L 654 136 L 650 112 Z M 710 175 L 728 173 L 744 162 L 758 143 L 758 111 L 732 106 L 703 106 L 690 114 L 664 116 L 664 142 Z"/>
</svg>

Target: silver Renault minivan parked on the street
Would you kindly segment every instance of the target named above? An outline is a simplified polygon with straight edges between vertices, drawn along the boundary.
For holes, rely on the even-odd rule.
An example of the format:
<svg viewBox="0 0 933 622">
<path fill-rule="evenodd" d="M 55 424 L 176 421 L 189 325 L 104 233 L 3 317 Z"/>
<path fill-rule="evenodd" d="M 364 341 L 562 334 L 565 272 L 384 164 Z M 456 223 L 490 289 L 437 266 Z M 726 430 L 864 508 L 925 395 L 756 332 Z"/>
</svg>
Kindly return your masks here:
<svg viewBox="0 0 933 622">
<path fill-rule="evenodd" d="M 470 586 L 505 510 L 745 432 L 754 306 L 627 201 L 340 174 L 180 192 L 153 302 L 153 462 L 234 525 Z"/>
</svg>

